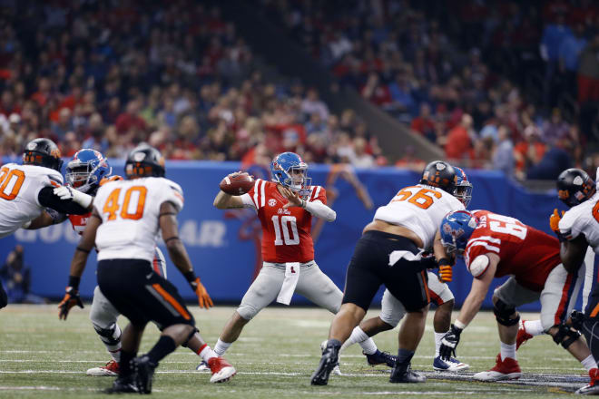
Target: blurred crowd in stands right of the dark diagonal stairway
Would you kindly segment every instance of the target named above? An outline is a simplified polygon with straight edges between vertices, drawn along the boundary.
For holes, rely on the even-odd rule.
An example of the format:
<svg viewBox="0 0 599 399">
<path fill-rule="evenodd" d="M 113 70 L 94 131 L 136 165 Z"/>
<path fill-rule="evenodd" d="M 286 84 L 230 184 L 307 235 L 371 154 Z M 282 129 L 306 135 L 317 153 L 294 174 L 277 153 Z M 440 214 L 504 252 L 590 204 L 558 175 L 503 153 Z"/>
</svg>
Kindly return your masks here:
<svg viewBox="0 0 599 399">
<path fill-rule="evenodd" d="M 583 149 L 599 126 L 591 1 L 259 3 L 339 83 L 450 160 L 532 179 L 590 162 Z M 582 121 L 589 104 L 591 122 Z"/>
</svg>

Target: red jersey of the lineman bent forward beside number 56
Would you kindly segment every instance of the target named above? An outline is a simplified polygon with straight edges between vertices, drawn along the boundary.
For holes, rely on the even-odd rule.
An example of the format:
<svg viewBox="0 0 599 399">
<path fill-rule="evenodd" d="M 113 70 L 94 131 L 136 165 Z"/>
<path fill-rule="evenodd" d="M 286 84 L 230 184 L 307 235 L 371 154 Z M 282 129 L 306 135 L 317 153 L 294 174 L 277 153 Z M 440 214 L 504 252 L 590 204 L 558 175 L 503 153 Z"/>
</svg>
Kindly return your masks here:
<svg viewBox="0 0 599 399">
<path fill-rule="evenodd" d="M 551 270 L 562 263 L 557 238 L 488 210 L 474 214 L 480 222 L 466 245 L 468 271 L 477 256 L 495 253 L 500 258 L 496 277 L 512 275 L 522 287 L 542 291 Z"/>
</svg>

